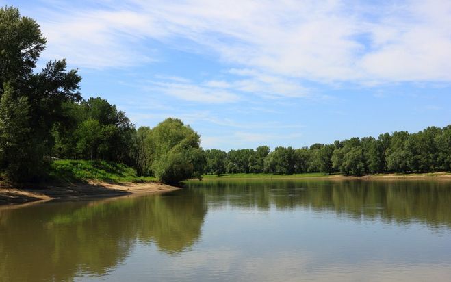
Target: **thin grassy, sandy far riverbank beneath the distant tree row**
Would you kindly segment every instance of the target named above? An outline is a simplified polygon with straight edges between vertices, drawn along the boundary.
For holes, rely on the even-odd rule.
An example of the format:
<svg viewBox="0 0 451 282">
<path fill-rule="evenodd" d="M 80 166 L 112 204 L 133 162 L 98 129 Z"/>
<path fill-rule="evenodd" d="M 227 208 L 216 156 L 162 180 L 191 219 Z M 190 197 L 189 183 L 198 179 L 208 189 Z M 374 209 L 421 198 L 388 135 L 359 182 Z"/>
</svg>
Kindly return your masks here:
<svg viewBox="0 0 451 282">
<path fill-rule="evenodd" d="M 250 179 L 328 179 L 328 180 L 440 180 L 451 181 L 450 172 L 412 173 L 412 174 L 376 174 L 363 176 L 324 175 L 323 173 L 302 173 L 296 175 L 272 175 L 267 173 L 237 173 L 228 175 L 204 175 L 205 180 L 250 180 Z"/>
</svg>

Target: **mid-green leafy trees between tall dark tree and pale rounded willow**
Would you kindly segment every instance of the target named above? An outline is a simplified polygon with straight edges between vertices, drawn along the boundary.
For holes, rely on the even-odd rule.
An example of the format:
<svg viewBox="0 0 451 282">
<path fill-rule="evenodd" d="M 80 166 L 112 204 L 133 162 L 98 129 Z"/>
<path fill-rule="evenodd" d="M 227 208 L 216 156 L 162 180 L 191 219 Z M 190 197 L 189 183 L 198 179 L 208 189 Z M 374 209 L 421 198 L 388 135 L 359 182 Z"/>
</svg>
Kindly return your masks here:
<svg viewBox="0 0 451 282">
<path fill-rule="evenodd" d="M 115 105 L 97 97 L 81 103 L 65 103 L 64 111 L 64 122 L 57 123 L 52 132 L 53 151 L 58 157 L 134 164 L 131 150 L 135 128 Z"/>
</svg>

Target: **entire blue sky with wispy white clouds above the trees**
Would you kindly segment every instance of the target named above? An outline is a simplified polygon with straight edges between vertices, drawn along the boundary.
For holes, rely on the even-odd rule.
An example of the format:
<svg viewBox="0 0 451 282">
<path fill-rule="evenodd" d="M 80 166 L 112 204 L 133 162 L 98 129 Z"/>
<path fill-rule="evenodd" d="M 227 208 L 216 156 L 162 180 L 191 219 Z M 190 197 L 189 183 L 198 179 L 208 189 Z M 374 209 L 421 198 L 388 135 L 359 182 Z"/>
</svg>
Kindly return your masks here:
<svg viewBox="0 0 451 282">
<path fill-rule="evenodd" d="M 95 3 L 93 3 L 95 2 Z M 4 1 L 47 60 L 137 126 L 205 149 L 309 146 L 451 123 L 451 1 Z"/>
</svg>

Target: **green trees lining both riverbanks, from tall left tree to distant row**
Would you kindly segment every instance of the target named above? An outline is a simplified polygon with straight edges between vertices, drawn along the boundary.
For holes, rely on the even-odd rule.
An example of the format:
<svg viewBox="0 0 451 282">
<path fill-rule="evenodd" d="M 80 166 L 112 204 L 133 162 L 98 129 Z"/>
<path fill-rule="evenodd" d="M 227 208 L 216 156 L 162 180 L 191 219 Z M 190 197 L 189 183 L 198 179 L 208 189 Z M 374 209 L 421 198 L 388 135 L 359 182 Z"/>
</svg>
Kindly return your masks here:
<svg viewBox="0 0 451 282">
<path fill-rule="evenodd" d="M 82 99 L 81 77 L 65 60 L 36 71 L 47 40 L 17 8 L 0 9 L 0 175 L 12 182 L 45 181 L 55 159 L 127 164 L 166 183 L 204 172 L 293 174 L 433 172 L 451 169 L 451 125 L 418 133 L 383 133 L 294 149 L 203 151 L 201 138 L 179 119 L 135 128 L 105 99 Z"/>
</svg>

